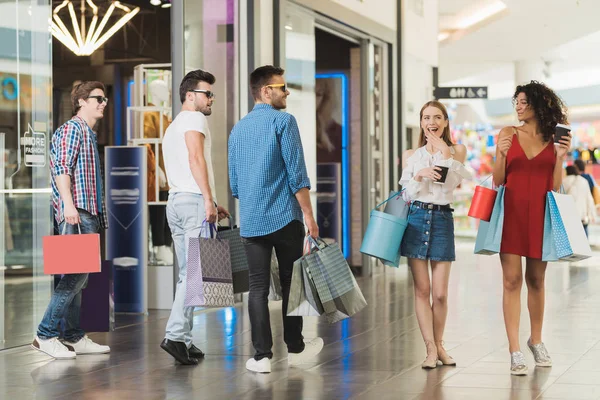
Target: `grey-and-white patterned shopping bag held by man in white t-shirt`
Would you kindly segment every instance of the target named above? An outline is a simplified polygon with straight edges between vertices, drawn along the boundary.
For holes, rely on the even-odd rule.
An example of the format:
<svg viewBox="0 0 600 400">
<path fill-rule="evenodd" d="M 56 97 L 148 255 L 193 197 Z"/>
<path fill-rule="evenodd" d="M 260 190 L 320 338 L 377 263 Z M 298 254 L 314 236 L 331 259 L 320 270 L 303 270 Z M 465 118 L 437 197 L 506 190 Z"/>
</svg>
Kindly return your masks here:
<svg viewBox="0 0 600 400">
<path fill-rule="evenodd" d="M 219 237 L 213 224 L 209 230 L 209 238 L 188 238 L 186 307 L 234 305 L 229 241 Z M 215 238 L 212 238 L 213 231 Z M 200 232 L 202 234 L 202 230 Z"/>
</svg>

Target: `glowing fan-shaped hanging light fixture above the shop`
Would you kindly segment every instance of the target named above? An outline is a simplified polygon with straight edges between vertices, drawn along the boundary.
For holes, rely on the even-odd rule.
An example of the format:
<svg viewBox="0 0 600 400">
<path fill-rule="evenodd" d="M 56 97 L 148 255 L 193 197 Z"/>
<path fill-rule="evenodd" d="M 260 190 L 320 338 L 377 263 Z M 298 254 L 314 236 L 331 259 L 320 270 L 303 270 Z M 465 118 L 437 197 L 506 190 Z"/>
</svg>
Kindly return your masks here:
<svg viewBox="0 0 600 400">
<path fill-rule="evenodd" d="M 92 9 L 93 13 L 92 23 L 90 24 L 87 32 L 85 18 L 86 4 Z M 69 11 L 71 25 L 73 27 L 73 31 L 75 32 L 75 37 L 73 37 L 71 31 L 69 31 L 65 23 L 58 15 L 63 8 L 67 8 Z M 110 16 L 117 8 L 123 11 L 125 14 L 114 25 L 104 31 Z M 110 4 L 110 7 L 108 7 L 108 10 L 106 10 L 106 14 L 104 14 L 102 21 L 100 21 L 100 25 L 98 25 L 98 7 L 92 0 L 81 0 L 81 23 L 78 23 L 73 2 L 70 0 L 65 0 L 61 5 L 54 9 L 52 21 L 50 23 L 50 31 L 52 32 L 52 36 L 67 46 L 67 48 L 69 48 L 69 50 L 76 55 L 89 56 L 94 51 L 98 50 L 100 46 L 102 46 L 108 39 L 112 37 L 112 35 L 114 35 L 127 22 L 129 22 L 129 20 L 131 20 L 131 18 L 133 18 L 138 12 L 140 12 L 139 7 L 131 10 L 121 4 L 121 2 L 113 1 Z"/>
</svg>

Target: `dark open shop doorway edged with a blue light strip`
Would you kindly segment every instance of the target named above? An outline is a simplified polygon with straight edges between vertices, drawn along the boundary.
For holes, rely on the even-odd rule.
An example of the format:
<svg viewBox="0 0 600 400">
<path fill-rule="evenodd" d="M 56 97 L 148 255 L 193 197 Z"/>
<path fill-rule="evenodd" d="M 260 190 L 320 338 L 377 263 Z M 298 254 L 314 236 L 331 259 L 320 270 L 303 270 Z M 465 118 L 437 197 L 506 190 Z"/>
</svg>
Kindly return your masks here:
<svg viewBox="0 0 600 400">
<path fill-rule="evenodd" d="M 350 135 L 360 130 L 360 44 L 319 28 L 316 43 L 317 223 L 321 237 L 351 249 Z M 354 126 L 352 126 L 354 124 Z"/>
</svg>

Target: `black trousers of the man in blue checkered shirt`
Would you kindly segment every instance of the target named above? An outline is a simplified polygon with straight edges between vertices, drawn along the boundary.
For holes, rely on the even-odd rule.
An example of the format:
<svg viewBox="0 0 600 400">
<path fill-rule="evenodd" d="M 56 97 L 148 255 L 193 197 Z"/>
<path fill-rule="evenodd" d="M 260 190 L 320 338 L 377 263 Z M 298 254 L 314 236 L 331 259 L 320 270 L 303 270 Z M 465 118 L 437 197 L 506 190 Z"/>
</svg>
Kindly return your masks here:
<svg viewBox="0 0 600 400">
<path fill-rule="evenodd" d="M 304 350 L 302 336 L 302 317 L 288 317 L 287 304 L 290 297 L 292 270 L 294 261 L 302 257 L 304 225 L 292 221 L 282 229 L 266 236 L 243 238 L 248 257 L 250 294 L 248 308 L 252 327 L 252 344 L 256 353 L 255 360 L 273 357 L 273 336 L 269 316 L 269 287 L 271 282 L 271 254 L 273 248 L 279 263 L 279 280 L 283 295 L 283 340 L 289 353 L 301 353 Z"/>
</svg>

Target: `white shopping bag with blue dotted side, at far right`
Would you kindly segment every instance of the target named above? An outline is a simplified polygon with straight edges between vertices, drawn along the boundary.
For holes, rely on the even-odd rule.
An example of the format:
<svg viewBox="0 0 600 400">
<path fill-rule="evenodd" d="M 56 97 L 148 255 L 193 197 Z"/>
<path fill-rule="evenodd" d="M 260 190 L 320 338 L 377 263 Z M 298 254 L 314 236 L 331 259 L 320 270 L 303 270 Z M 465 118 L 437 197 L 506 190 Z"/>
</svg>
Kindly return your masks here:
<svg viewBox="0 0 600 400">
<path fill-rule="evenodd" d="M 581 261 L 592 256 L 575 199 L 548 192 L 544 214 L 542 261 Z"/>
</svg>

